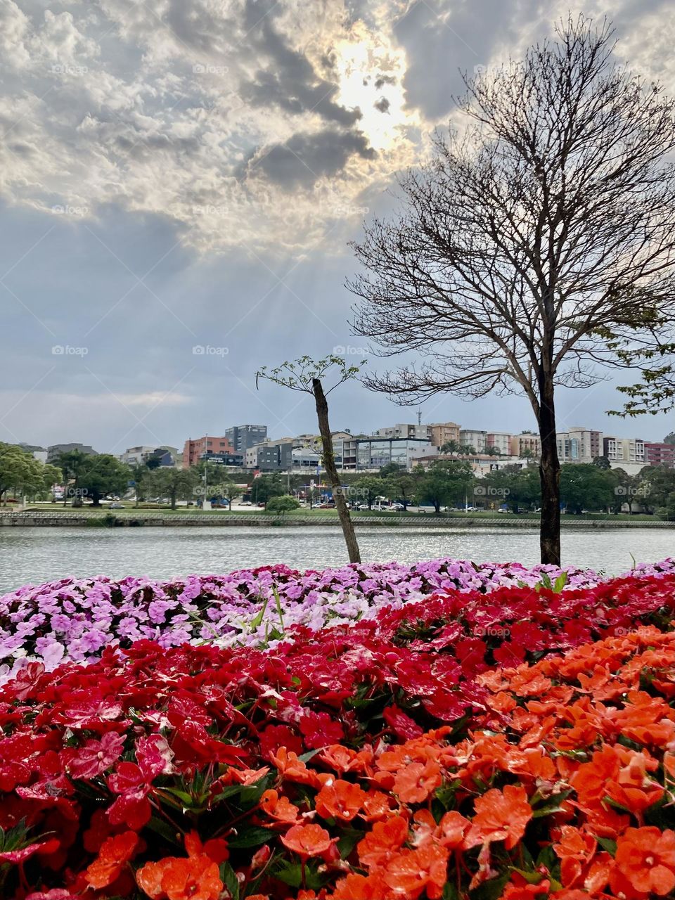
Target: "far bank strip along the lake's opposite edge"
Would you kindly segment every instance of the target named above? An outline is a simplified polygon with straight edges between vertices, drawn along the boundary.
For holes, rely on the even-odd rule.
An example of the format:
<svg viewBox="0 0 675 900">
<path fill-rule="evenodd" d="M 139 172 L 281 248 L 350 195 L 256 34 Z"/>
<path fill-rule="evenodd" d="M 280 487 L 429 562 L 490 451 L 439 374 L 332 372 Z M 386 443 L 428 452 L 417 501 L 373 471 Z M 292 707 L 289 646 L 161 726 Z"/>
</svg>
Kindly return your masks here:
<svg viewBox="0 0 675 900">
<path fill-rule="evenodd" d="M 395 528 L 447 528 L 448 530 L 461 528 L 502 527 L 502 528 L 538 528 L 539 519 L 513 517 L 472 518 L 456 517 L 441 518 L 437 516 L 397 516 L 380 517 L 369 516 L 354 518 L 354 526 L 360 527 L 395 527 Z M 331 516 L 302 517 L 293 516 L 265 516 L 265 515 L 237 515 L 223 512 L 222 515 L 202 515 L 201 513 L 165 514 L 161 512 L 136 513 L 133 510 L 114 514 L 101 510 L 96 513 L 77 513 L 73 511 L 10 511 L 0 513 L 0 527 L 82 527 L 82 528 L 118 528 L 118 527 L 339 527 L 339 521 Z M 563 530 L 568 528 L 675 528 L 675 522 L 666 522 L 661 519 L 653 521 L 645 519 L 620 519 L 618 521 L 607 519 L 583 519 L 563 518 Z"/>
</svg>

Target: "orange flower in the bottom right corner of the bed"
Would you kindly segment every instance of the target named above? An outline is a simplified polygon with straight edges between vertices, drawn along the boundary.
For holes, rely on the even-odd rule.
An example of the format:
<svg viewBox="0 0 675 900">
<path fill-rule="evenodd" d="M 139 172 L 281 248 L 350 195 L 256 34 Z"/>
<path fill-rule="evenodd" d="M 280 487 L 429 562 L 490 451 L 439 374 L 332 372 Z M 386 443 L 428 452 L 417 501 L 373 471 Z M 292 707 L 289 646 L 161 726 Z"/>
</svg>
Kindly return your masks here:
<svg viewBox="0 0 675 900">
<path fill-rule="evenodd" d="M 615 861 L 635 890 L 666 896 L 675 888 L 675 832 L 628 828 L 617 841 Z"/>
</svg>

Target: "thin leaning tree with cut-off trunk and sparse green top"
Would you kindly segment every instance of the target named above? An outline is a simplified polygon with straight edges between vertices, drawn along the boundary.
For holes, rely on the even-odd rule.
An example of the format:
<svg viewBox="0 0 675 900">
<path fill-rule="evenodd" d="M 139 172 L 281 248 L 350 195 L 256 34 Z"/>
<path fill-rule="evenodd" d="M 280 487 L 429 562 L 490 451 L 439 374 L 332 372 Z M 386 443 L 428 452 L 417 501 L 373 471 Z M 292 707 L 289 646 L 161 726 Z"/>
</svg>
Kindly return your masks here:
<svg viewBox="0 0 675 900">
<path fill-rule="evenodd" d="M 365 360 L 361 365 L 364 365 Z M 322 379 L 329 374 L 330 370 L 336 367 L 337 381 L 324 391 Z M 286 362 L 277 366 L 275 369 L 267 371 L 267 367 L 263 366 L 256 374 L 256 387 L 258 380 L 266 378 L 275 384 L 281 384 L 291 391 L 301 391 L 309 393 L 314 398 L 317 410 L 317 419 L 319 420 L 319 431 L 321 436 L 321 447 L 323 450 L 323 464 L 328 473 L 330 485 L 333 489 L 333 499 L 338 509 L 338 517 L 342 526 L 342 533 L 345 536 L 347 544 L 347 554 L 349 554 L 350 563 L 360 563 L 361 554 L 356 542 L 356 534 L 354 524 L 349 515 L 349 508 L 345 494 L 340 484 L 340 476 L 335 464 L 335 453 L 333 451 L 333 437 L 330 433 L 329 425 L 329 404 L 327 397 L 331 391 L 335 391 L 339 384 L 349 381 L 356 377 L 359 372 L 358 365 L 347 365 L 341 356 L 326 356 L 323 359 L 314 361 L 310 356 L 301 356 L 293 363 Z"/>
</svg>

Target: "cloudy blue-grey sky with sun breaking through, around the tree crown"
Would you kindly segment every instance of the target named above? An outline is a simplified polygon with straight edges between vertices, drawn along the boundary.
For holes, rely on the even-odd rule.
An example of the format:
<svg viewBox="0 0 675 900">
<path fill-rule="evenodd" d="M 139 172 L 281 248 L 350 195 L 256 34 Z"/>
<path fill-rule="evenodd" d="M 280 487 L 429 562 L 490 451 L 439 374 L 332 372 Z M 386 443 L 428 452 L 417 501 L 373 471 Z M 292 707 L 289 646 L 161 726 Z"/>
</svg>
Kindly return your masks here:
<svg viewBox="0 0 675 900">
<path fill-rule="evenodd" d="M 669 0 L 3 0 L 0 441 L 119 454 L 231 425 L 316 430 L 311 397 L 261 365 L 355 338 L 349 241 L 400 209 L 473 74 L 583 11 L 675 92 Z M 625 381 L 625 379 L 624 379 Z M 621 383 L 621 382 L 619 382 Z M 561 391 L 573 425 L 660 440 L 673 416 L 609 418 L 615 383 Z M 422 420 L 517 432 L 527 401 L 428 400 Z M 331 426 L 414 421 L 331 394 Z"/>
</svg>

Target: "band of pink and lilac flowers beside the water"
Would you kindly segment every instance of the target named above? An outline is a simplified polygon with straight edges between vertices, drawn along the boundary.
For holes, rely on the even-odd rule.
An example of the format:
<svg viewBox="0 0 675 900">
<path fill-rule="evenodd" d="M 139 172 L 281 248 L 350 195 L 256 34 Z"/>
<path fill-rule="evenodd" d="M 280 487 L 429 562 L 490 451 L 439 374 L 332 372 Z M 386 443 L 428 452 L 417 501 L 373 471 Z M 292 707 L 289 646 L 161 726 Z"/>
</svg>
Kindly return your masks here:
<svg viewBox="0 0 675 900">
<path fill-rule="evenodd" d="M 665 560 L 638 566 L 631 574 L 673 571 L 675 562 Z M 574 568 L 563 574 L 553 566 L 526 569 L 518 563 L 444 559 L 325 572 L 274 566 L 174 581 L 95 578 L 29 585 L 0 598 L 0 683 L 31 660 L 51 670 L 68 659 L 90 661 L 106 646 L 130 646 L 142 638 L 166 647 L 205 641 L 274 645 L 289 626 L 338 626 L 437 591 L 487 593 L 556 581 L 564 581 L 566 589 L 586 588 L 599 576 Z"/>
</svg>

